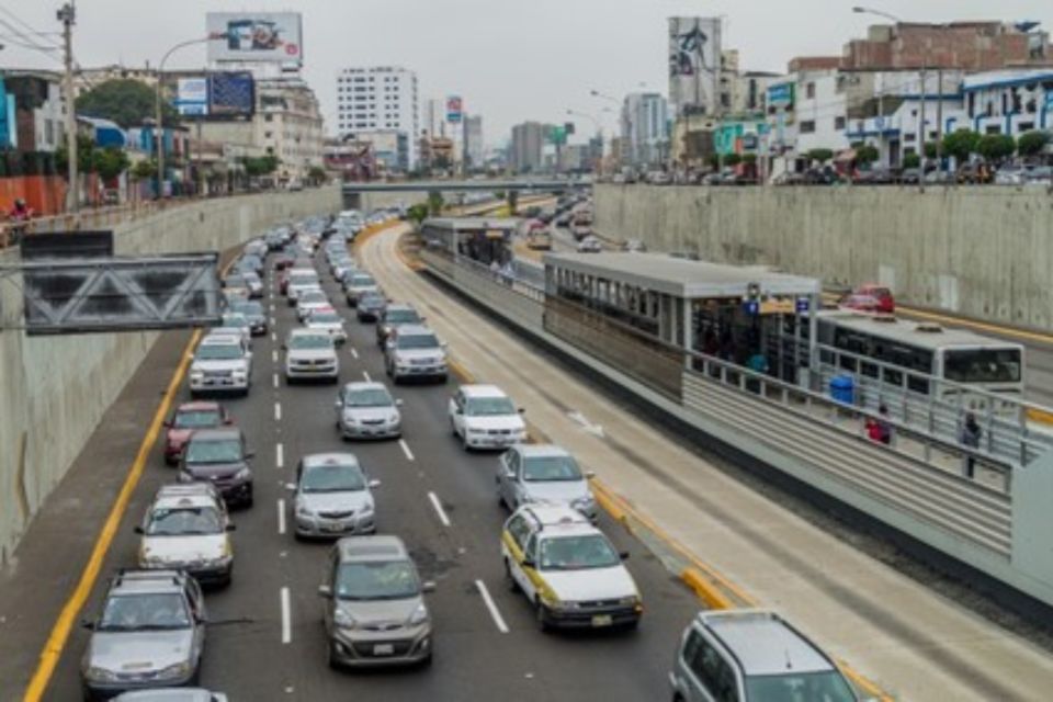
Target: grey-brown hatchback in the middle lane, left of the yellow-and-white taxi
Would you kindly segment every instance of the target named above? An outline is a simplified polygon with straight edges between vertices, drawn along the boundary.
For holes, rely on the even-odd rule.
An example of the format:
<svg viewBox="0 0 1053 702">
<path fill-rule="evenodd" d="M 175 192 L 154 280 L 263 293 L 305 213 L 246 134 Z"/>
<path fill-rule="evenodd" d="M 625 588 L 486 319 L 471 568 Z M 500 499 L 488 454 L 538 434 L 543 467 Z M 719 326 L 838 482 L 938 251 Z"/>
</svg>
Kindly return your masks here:
<svg viewBox="0 0 1053 702">
<path fill-rule="evenodd" d="M 431 616 L 421 582 L 398 536 L 341 539 L 332 547 L 325 598 L 329 665 L 338 667 L 428 665 Z"/>
</svg>

